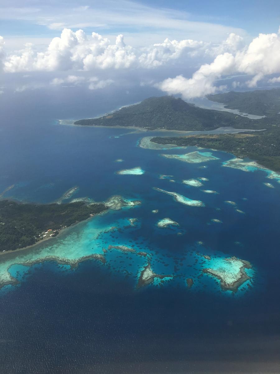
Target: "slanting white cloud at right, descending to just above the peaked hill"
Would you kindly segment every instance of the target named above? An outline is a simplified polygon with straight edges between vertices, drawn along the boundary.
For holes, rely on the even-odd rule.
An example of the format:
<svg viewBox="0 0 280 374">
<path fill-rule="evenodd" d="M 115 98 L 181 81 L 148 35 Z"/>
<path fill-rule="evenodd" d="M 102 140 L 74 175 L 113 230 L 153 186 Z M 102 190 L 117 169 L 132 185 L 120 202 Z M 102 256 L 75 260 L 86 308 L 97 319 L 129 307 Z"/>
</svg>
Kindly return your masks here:
<svg viewBox="0 0 280 374">
<path fill-rule="evenodd" d="M 268 74 L 280 73 L 280 35 L 259 34 L 248 47 L 236 53 L 225 52 L 211 64 L 202 65 L 192 78 L 168 78 L 159 83 L 158 88 L 170 94 L 179 93 L 186 99 L 201 97 L 221 89 L 215 85 L 217 79 L 236 73 L 253 75 L 246 82 L 248 87 L 255 87 Z"/>
</svg>

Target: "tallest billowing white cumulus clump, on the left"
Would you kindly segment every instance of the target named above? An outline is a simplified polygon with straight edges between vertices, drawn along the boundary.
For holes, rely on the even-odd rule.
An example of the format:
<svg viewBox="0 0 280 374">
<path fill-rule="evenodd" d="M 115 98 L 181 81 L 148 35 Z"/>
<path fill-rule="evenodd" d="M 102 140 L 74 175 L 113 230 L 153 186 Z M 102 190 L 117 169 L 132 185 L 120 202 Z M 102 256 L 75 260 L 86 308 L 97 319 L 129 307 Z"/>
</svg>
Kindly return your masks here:
<svg viewBox="0 0 280 374">
<path fill-rule="evenodd" d="M 83 30 L 76 32 L 63 29 L 60 37 L 50 42 L 47 50 L 36 52 L 34 45 L 27 43 L 25 48 L 7 57 L 4 70 L 7 73 L 18 71 L 93 70 L 94 68 L 128 68 L 136 56 L 124 37 L 116 37 L 115 44 L 97 33 L 87 37 Z"/>
</svg>

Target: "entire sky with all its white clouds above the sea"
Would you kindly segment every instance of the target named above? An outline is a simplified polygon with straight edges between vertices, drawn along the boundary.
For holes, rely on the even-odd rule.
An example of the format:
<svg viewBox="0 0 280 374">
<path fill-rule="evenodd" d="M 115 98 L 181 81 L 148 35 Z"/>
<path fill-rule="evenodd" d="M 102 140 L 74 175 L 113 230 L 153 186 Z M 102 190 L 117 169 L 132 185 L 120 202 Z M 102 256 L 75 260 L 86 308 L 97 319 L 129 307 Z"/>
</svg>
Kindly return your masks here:
<svg viewBox="0 0 280 374">
<path fill-rule="evenodd" d="M 59 87 L 185 100 L 278 87 L 279 26 L 274 0 L 1 0 L 0 100 Z"/>
</svg>

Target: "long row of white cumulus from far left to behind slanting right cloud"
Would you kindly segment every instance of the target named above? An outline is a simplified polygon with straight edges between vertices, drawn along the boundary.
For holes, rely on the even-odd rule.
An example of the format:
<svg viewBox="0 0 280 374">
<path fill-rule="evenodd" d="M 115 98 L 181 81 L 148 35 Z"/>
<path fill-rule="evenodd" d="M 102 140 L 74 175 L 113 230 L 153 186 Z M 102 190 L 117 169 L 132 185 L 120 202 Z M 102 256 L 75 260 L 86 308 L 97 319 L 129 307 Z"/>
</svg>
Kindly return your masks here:
<svg viewBox="0 0 280 374">
<path fill-rule="evenodd" d="M 231 33 L 222 45 L 185 39 L 169 40 L 141 49 L 126 45 L 122 34 L 111 43 L 97 33 L 88 37 L 83 30 L 72 31 L 64 28 L 60 37 L 55 37 L 47 49 L 37 52 L 32 43 L 24 49 L 7 56 L 4 70 L 7 73 L 27 71 L 67 71 L 96 69 L 127 69 L 133 67 L 157 68 L 169 62 L 203 55 L 217 55 L 218 52 L 235 51 L 242 38 Z"/>
</svg>

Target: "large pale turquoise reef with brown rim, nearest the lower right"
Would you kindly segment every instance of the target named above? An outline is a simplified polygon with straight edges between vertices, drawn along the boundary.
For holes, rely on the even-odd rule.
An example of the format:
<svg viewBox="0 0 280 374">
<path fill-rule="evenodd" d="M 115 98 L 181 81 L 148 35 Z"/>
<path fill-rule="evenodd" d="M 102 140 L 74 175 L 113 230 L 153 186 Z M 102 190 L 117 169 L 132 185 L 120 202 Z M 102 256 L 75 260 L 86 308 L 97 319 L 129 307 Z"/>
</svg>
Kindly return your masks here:
<svg viewBox="0 0 280 374">
<path fill-rule="evenodd" d="M 223 291 L 237 292 L 238 288 L 251 277 L 246 273 L 245 269 L 251 269 L 252 265 L 249 261 L 240 260 L 236 257 L 216 259 L 214 267 L 203 269 L 203 273 L 212 275 L 220 280 L 221 289 Z"/>
</svg>

